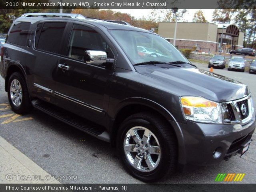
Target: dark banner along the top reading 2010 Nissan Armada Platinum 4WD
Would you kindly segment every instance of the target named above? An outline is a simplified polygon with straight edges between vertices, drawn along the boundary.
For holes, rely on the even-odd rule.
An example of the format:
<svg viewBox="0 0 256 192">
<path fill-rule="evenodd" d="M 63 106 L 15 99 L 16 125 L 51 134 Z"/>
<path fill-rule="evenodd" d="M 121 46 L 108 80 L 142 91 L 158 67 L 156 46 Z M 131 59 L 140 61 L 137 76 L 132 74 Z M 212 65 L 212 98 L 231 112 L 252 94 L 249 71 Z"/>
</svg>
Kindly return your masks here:
<svg viewBox="0 0 256 192">
<path fill-rule="evenodd" d="M 168 9 L 168 8 L 256 8 L 256 0 L 1 0 L 2 9 L 20 8 L 101 8 L 101 9 Z"/>
</svg>

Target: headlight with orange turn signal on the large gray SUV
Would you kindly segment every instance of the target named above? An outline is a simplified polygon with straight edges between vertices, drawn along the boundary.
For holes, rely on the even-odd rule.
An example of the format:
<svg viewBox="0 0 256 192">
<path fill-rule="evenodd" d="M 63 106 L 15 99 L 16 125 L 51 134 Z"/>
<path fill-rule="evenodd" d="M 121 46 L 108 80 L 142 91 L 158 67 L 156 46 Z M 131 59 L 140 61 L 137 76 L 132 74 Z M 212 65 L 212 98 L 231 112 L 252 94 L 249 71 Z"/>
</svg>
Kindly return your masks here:
<svg viewBox="0 0 256 192">
<path fill-rule="evenodd" d="M 203 123 L 222 123 L 220 104 L 202 97 L 180 97 L 182 112 L 187 120 Z"/>
</svg>

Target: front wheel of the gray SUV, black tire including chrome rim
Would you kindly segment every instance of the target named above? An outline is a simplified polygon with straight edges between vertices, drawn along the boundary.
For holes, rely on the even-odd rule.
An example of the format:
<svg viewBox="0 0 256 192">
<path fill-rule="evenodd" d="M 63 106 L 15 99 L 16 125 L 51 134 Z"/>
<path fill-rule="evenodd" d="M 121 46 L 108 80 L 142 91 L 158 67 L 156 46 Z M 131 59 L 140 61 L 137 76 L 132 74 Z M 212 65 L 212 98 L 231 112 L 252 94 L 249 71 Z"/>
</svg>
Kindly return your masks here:
<svg viewBox="0 0 256 192">
<path fill-rule="evenodd" d="M 156 114 L 142 112 L 124 120 L 118 130 L 117 148 L 128 173 L 144 182 L 159 180 L 176 170 L 175 133 Z"/>
</svg>

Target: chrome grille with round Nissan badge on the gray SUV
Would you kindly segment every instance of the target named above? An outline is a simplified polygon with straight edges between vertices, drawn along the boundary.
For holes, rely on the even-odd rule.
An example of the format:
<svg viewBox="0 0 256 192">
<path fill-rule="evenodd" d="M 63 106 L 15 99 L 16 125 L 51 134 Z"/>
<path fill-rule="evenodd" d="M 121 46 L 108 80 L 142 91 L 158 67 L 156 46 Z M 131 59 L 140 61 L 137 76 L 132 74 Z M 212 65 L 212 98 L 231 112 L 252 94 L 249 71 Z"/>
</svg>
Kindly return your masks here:
<svg viewBox="0 0 256 192">
<path fill-rule="evenodd" d="M 242 99 L 221 103 L 224 124 L 242 125 L 252 118 L 251 96 Z"/>
</svg>

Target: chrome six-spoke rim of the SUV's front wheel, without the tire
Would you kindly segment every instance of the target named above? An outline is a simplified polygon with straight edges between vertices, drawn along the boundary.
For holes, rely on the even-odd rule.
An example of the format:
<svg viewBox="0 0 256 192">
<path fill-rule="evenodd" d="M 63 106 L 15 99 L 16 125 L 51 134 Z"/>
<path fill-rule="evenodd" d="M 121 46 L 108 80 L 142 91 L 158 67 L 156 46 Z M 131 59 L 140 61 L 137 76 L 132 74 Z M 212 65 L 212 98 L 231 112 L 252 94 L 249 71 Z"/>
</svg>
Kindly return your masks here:
<svg viewBox="0 0 256 192">
<path fill-rule="evenodd" d="M 161 148 L 156 136 L 147 128 L 131 128 L 124 138 L 124 153 L 134 168 L 142 172 L 154 170 L 161 158 Z"/>
</svg>

